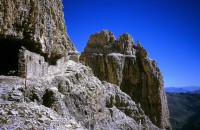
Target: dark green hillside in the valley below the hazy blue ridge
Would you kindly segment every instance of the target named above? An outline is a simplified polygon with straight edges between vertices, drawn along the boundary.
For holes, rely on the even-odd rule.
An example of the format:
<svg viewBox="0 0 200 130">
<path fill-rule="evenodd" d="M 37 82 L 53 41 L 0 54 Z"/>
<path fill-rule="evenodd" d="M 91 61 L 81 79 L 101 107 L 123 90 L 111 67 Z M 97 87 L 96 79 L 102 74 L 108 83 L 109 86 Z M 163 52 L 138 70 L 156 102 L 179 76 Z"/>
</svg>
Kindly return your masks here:
<svg viewBox="0 0 200 130">
<path fill-rule="evenodd" d="M 173 130 L 200 130 L 200 94 L 194 92 L 166 93 Z"/>
</svg>

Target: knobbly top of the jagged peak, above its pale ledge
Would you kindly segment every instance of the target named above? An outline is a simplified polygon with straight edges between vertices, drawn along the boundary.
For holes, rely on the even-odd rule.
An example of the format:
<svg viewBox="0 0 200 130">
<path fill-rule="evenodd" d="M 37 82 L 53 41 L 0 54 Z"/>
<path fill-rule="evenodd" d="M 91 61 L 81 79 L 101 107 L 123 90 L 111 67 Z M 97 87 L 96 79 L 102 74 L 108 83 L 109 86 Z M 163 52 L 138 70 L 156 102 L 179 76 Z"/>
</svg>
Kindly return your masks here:
<svg viewBox="0 0 200 130">
<path fill-rule="evenodd" d="M 115 52 L 125 55 L 135 54 L 134 42 L 130 34 L 122 34 L 116 39 L 113 32 L 108 30 L 92 34 L 84 52 L 102 54 Z"/>
</svg>

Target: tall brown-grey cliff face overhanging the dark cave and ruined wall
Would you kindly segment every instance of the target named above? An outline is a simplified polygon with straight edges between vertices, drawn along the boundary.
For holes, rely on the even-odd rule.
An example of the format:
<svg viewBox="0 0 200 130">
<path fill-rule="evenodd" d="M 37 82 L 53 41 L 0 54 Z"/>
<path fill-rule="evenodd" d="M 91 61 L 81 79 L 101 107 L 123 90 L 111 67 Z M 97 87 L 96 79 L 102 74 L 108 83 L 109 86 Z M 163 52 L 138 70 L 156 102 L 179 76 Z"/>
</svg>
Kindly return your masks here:
<svg viewBox="0 0 200 130">
<path fill-rule="evenodd" d="M 75 50 L 66 34 L 62 0 L 0 0 L 0 40 L 58 59 Z"/>
</svg>

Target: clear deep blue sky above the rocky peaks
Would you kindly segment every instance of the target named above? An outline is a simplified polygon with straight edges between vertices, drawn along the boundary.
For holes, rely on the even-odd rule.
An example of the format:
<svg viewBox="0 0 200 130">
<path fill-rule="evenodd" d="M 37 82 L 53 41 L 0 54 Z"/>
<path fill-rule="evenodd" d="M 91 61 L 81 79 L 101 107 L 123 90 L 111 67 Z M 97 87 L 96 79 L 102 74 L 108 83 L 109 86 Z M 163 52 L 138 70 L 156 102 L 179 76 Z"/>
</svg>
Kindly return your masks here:
<svg viewBox="0 0 200 130">
<path fill-rule="evenodd" d="M 68 34 L 82 52 L 103 29 L 129 33 L 158 62 L 165 86 L 200 86 L 200 0 L 63 0 Z"/>
</svg>

